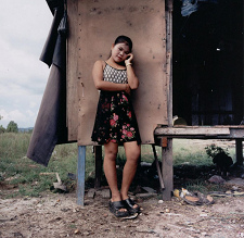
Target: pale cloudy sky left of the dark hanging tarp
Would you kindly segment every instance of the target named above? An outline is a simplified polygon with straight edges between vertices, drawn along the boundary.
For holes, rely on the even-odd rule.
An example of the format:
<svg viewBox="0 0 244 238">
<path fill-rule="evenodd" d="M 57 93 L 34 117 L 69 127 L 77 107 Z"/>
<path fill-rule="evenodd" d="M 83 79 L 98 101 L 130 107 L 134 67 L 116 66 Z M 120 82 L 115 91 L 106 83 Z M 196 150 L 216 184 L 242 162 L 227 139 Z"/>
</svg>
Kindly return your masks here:
<svg viewBox="0 0 244 238">
<path fill-rule="evenodd" d="M 52 24 L 46 0 L 8 0 L 0 11 L 0 125 L 34 127 L 50 68 L 39 60 Z"/>
</svg>

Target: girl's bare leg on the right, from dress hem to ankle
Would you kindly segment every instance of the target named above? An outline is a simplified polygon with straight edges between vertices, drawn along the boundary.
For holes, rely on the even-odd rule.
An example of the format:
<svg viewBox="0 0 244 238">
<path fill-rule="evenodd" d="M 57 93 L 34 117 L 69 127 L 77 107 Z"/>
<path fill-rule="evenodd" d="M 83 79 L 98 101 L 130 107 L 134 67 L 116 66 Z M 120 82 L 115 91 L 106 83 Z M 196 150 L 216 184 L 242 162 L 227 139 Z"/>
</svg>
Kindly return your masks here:
<svg viewBox="0 0 244 238">
<path fill-rule="evenodd" d="M 137 141 L 125 142 L 124 147 L 126 151 L 127 161 L 123 171 L 123 183 L 120 190 L 123 200 L 128 199 L 129 187 L 137 172 L 138 160 L 141 154 L 141 147 L 138 146 Z"/>
</svg>

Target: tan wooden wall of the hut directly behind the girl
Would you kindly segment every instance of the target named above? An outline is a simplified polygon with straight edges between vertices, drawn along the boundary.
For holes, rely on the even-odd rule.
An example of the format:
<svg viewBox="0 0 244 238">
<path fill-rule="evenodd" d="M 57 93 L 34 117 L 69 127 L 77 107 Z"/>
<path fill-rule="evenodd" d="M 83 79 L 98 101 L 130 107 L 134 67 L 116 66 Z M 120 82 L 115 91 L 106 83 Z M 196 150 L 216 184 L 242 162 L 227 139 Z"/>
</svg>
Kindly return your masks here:
<svg viewBox="0 0 244 238">
<path fill-rule="evenodd" d="M 167 124 L 166 23 L 164 0 L 68 0 L 67 124 L 69 140 L 93 145 L 91 131 L 99 92 L 92 79 L 97 60 L 106 60 L 118 35 L 133 41 L 140 87 L 133 105 L 143 143 Z"/>
</svg>

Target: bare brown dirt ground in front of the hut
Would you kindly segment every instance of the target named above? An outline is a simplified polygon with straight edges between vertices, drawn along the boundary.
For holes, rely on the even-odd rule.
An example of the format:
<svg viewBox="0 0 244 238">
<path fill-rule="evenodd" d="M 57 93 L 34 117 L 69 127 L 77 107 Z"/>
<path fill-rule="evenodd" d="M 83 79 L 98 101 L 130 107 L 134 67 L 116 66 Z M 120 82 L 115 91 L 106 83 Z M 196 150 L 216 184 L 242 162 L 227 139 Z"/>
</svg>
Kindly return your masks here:
<svg viewBox="0 0 244 238">
<path fill-rule="evenodd" d="M 172 197 L 138 199 L 143 209 L 132 220 L 116 218 L 108 199 L 76 193 L 0 199 L 0 237 L 244 237 L 244 197 L 214 197 L 210 205 L 190 205 Z"/>
</svg>

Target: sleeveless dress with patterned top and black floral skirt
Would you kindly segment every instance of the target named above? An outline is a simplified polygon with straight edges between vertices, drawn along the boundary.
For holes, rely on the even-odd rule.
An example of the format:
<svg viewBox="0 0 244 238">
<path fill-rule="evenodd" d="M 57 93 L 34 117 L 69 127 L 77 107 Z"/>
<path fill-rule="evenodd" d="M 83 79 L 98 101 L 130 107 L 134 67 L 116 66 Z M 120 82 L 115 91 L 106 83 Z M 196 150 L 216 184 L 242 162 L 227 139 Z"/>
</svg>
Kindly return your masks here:
<svg viewBox="0 0 244 238">
<path fill-rule="evenodd" d="M 126 70 L 116 70 L 106 63 L 103 80 L 127 84 L 127 72 Z M 118 145 L 128 141 L 141 143 L 137 118 L 128 93 L 125 91 L 100 91 L 91 139 L 99 145 L 110 141 Z"/>
</svg>

